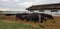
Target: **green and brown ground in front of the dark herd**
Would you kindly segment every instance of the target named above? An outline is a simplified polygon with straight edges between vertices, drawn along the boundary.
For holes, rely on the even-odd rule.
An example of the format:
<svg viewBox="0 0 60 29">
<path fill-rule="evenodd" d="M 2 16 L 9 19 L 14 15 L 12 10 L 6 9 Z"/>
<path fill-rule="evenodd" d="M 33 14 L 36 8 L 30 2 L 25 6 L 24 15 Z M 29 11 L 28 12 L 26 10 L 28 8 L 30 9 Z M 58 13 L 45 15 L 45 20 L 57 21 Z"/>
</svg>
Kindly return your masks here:
<svg viewBox="0 0 60 29">
<path fill-rule="evenodd" d="M 15 16 L 5 16 L 3 20 L 6 21 L 0 21 L 0 29 L 60 29 L 60 16 L 54 16 L 56 23 L 52 23 L 52 20 L 42 23 L 43 27 L 35 27 L 38 24 L 30 22 L 24 22 L 25 24 L 23 24 L 20 19 L 15 20 Z"/>
</svg>

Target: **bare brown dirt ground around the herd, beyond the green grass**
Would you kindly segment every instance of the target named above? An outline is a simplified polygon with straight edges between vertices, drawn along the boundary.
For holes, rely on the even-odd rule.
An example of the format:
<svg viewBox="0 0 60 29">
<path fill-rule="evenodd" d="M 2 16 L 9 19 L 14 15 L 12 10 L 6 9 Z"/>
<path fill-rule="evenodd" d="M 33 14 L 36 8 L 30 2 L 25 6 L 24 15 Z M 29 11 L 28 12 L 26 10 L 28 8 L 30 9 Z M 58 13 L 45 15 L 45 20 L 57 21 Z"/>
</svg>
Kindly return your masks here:
<svg viewBox="0 0 60 29">
<path fill-rule="evenodd" d="M 8 22 L 8 23 L 24 23 L 26 25 L 30 24 L 33 27 L 39 27 L 38 23 L 34 23 L 34 22 L 25 22 L 25 21 L 21 21 L 21 20 L 16 20 L 15 15 L 14 16 L 4 16 L 1 19 L 3 19 L 3 21 Z M 52 20 L 47 20 L 44 23 L 40 23 L 40 28 L 41 29 L 60 29 L 60 16 L 54 16 L 54 20 L 55 23 L 53 23 Z"/>
</svg>

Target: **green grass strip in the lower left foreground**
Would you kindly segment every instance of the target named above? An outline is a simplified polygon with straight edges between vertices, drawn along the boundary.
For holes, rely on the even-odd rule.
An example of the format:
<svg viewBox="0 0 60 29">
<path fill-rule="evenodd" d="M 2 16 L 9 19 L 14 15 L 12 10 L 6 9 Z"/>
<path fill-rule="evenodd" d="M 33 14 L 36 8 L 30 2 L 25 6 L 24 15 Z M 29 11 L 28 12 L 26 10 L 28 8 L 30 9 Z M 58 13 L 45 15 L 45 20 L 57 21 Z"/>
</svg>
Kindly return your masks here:
<svg viewBox="0 0 60 29">
<path fill-rule="evenodd" d="M 31 25 L 24 25 L 23 23 L 7 23 L 0 21 L 0 29 L 39 29 L 38 27 L 32 28 Z"/>
</svg>

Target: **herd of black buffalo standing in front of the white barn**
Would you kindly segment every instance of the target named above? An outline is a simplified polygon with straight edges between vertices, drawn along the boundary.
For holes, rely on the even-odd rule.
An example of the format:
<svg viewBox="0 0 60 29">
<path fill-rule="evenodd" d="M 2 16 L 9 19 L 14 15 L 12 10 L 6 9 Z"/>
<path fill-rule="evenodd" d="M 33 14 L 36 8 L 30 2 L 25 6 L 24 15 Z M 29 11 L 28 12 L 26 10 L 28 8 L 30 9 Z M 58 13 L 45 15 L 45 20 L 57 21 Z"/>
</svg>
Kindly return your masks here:
<svg viewBox="0 0 60 29">
<path fill-rule="evenodd" d="M 6 14 L 6 16 L 12 16 L 16 15 L 16 20 L 19 18 L 22 21 L 26 20 L 32 21 L 32 22 L 37 22 L 37 23 L 43 23 L 43 21 L 46 21 L 48 19 L 54 20 L 53 16 L 50 14 L 45 14 L 45 13 L 19 13 L 19 14 Z"/>
</svg>

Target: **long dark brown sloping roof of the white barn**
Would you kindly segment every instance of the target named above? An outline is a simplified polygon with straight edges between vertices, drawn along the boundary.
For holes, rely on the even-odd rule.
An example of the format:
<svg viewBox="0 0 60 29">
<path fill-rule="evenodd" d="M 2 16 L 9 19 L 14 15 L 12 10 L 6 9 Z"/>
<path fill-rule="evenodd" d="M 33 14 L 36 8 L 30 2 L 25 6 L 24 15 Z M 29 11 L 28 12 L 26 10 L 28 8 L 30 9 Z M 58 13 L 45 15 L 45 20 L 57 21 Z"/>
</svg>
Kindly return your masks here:
<svg viewBox="0 0 60 29">
<path fill-rule="evenodd" d="M 45 4 L 45 5 L 33 5 L 26 10 L 52 10 L 52 9 L 60 9 L 60 3 L 56 4 Z"/>
</svg>

